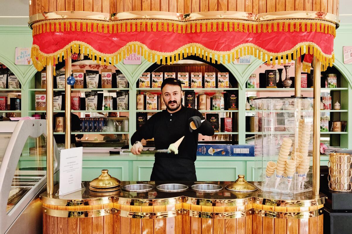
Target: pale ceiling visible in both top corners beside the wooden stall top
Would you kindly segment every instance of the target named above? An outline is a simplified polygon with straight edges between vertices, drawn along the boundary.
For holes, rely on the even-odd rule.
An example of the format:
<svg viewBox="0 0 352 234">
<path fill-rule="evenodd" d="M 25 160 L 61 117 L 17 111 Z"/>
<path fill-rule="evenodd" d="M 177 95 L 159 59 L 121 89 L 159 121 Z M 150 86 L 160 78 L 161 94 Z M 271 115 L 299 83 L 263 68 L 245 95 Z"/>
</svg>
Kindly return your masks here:
<svg viewBox="0 0 352 234">
<path fill-rule="evenodd" d="M 340 23 L 352 24 L 351 0 L 340 0 Z M 27 25 L 29 0 L 0 0 L 0 25 Z"/>
</svg>

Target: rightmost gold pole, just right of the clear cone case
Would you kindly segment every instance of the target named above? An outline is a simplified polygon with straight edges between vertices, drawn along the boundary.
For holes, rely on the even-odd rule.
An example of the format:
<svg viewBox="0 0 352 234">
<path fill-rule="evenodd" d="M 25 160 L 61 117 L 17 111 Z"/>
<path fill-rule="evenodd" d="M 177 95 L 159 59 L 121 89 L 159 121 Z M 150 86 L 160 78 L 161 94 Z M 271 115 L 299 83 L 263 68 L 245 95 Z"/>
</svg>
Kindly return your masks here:
<svg viewBox="0 0 352 234">
<path fill-rule="evenodd" d="M 313 58 L 313 195 L 320 185 L 320 60 Z"/>
</svg>

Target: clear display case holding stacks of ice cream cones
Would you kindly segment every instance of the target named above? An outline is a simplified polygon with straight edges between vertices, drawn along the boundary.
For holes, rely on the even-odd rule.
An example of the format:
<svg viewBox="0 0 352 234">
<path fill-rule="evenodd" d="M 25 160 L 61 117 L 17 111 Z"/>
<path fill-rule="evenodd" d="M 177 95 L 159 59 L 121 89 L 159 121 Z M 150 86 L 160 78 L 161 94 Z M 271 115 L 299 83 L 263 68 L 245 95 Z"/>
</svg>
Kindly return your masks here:
<svg viewBox="0 0 352 234">
<path fill-rule="evenodd" d="M 295 194 L 312 189 L 313 100 L 257 98 L 255 179 L 263 191 Z"/>
</svg>

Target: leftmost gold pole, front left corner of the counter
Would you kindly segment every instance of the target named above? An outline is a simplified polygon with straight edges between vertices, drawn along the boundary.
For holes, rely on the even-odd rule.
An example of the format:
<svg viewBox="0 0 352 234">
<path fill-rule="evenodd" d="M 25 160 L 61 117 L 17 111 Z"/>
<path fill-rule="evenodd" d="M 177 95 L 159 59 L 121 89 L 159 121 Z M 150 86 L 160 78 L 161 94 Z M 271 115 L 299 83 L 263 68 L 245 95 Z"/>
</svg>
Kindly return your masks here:
<svg viewBox="0 0 352 234">
<path fill-rule="evenodd" d="M 52 76 L 52 60 L 46 65 L 46 193 L 54 194 L 54 136 L 53 136 L 53 98 L 54 85 Z"/>
</svg>

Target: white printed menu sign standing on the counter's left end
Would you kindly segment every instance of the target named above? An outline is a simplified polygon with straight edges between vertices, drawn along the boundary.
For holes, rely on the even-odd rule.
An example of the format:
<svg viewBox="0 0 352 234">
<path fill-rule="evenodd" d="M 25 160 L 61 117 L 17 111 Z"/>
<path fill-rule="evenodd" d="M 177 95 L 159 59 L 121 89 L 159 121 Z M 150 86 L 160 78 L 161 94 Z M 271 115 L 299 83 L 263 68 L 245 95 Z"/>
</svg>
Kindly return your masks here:
<svg viewBox="0 0 352 234">
<path fill-rule="evenodd" d="M 82 158 L 83 147 L 61 150 L 58 195 L 73 193 L 82 188 Z"/>
</svg>

